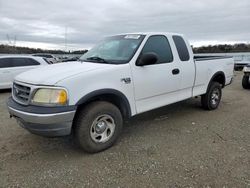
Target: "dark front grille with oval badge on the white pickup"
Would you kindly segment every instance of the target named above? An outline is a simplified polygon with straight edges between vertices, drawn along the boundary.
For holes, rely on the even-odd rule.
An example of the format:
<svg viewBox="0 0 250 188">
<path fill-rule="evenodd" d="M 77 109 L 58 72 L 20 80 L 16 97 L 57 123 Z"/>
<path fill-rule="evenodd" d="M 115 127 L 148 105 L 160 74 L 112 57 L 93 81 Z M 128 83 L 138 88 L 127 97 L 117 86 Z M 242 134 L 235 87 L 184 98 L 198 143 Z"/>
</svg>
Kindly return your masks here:
<svg viewBox="0 0 250 188">
<path fill-rule="evenodd" d="M 14 99 L 21 104 L 28 104 L 30 99 L 31 88 L 26 85 L 21 85 L 14 83 L 13 84 L 13 97 Z"/>
</svg>

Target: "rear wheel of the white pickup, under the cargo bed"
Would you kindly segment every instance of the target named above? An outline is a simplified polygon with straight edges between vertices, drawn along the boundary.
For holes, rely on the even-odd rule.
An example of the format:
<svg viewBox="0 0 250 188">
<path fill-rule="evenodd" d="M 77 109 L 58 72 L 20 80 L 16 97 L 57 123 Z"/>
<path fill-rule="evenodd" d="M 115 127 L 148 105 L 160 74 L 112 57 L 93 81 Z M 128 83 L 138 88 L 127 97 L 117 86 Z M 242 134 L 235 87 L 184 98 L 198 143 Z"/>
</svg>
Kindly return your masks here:
<svg viewBox="0 0 250 188">
<path fill-rule="evenodd" d="M 206 110 L 215 110 L 220 104 L 222 96 L 221 85 L 218 82 L 212 82 L 207 93 L 201 96 L 201 105 Z"/>
</svg>

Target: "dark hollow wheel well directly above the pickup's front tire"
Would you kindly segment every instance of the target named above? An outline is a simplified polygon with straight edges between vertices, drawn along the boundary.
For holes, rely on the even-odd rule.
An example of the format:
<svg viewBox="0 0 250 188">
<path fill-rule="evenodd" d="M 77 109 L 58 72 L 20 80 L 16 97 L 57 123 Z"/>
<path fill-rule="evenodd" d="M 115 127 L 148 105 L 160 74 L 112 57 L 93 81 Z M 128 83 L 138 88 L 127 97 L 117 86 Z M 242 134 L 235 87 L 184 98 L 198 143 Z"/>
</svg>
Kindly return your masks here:
<svg viewBox="0 0 250 188">
<path fill-rule="evenodd" d="M 77 109 L 84 108 L 84 106 L 88 105 L 94 101 L 107 101 L 115 105 L 120 111 L 124 118 L 131 117 L 130 106 L 127 98 L 125 96 L 121 96 L 120 94 L 114 93 L 103 93 L 92 95 L 91 97 L 86 97 L 85 99 L 81 99 L 77 104 Z"/>
</svg>

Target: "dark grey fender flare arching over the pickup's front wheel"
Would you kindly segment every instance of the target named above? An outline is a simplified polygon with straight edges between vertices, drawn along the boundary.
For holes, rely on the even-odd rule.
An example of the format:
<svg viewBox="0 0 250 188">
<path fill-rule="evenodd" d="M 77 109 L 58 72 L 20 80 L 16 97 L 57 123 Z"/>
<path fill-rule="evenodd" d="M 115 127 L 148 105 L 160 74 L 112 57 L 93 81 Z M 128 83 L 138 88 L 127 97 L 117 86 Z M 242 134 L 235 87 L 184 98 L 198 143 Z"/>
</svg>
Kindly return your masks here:
<svg viewBox="0 0 250 188">
<path fill-rule="evenodd" d="M 79 106 L 81 104 L 84 104 L 88 101 L 90 101 L 93 98 L 96 98 L 98 96 L 102 95 L 114 95 L 117 98 L 119 98 L 120 102 L 122 103 L 122 108 L 125 107 L 125 110 L 127 112 L 127 116 L 131 117 L 131 108 L 130 108 L 130 103 L 127 99 L 127 97 L 120 91 L 115 90 L 115 89 L 100 89 L 100 90 L 95 90 L 90 92 L 89 94 L 83 96 L 77 103 L 76 106 Z"/>
</svg>

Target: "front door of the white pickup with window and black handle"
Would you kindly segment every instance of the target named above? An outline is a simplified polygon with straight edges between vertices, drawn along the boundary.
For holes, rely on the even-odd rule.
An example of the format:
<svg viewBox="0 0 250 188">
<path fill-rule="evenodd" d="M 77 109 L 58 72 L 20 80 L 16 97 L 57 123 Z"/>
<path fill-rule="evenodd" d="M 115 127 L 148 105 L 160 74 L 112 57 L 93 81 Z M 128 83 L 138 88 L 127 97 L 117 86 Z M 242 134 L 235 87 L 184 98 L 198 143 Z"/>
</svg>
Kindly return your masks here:
<svg viewBox="0 0 250 188">
<path fill-rule="evenodd" d="M 141 55 L 154 52 L 158 56 L 156 64 L 132 65 L 135 102 L 137 112 L 145 112 L 178 101 L 181 83 L 179 63 L 174 60 L 171 46 L 173 42 L 165 35 L 150 36 L 141 50 Z"/>
</svg>

